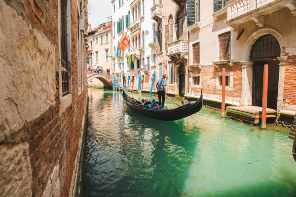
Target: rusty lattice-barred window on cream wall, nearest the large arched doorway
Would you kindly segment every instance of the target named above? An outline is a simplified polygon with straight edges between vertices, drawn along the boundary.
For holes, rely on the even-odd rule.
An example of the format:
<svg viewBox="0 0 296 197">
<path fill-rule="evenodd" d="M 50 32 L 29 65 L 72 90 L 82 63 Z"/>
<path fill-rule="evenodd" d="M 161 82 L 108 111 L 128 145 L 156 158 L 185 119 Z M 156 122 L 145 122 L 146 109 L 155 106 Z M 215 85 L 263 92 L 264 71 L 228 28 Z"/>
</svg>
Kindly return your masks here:
<svg viewBox="0 0 296 197">
<path fill-rule="evenodd" d="M 230 60 L 230 32 L 219 36 L 219 60 Z"/>
</svg>

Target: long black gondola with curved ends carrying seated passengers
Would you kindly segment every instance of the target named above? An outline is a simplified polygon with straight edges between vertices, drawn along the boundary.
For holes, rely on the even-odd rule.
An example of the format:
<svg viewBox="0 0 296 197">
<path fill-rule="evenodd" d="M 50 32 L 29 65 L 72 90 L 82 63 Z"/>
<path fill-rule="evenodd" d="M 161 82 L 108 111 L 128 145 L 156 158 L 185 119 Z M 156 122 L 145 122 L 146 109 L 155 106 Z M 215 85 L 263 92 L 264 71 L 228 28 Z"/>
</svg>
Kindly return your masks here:
<svg viewBox="0 0 296 197">
<path fill-rule="evenodd" d="M 132 111 L 147 116 L 149 118 L 162 120 L 162 121 L 175 121 L 195 114 L 200 111 L 203 104 L 202 91 L 200 98 L 195 102 L 188 102 L 183 106 L 175 109 L 146 109 L 142 107 L 141 102 L 129 97 L 124 91 L 122 93 L 123 100 L 126 106 Z"/>
</svg>

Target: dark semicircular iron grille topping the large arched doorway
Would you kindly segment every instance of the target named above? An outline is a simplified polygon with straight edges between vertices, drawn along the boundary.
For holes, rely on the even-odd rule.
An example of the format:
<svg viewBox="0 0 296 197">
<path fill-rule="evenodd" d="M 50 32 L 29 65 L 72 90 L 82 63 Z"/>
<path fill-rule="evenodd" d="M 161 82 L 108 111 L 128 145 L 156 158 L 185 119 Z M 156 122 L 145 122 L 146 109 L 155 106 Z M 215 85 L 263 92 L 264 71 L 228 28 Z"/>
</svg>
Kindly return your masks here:
<svg viewBox="0 0 296 197">
<path fill-rule="evenodd" d="M 281 47 L 278 40 L 271 34 L 260 37 L 251 50 L 251 60 L 269 60 L 281 56 Z"/>
</svg>

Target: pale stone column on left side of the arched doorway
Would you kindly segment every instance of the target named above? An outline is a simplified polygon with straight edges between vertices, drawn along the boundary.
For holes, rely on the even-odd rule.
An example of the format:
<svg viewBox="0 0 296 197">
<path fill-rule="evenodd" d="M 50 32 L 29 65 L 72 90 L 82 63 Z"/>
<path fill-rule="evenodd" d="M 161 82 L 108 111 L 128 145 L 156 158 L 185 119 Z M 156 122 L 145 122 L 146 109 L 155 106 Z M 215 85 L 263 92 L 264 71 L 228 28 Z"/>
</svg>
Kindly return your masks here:
<svg viewBox="0 0 296 197">
<path fill-rule="evenodd" d="M 252 105 L 253 92 L 253 62 L 240 62 L 242 64 L 242 105 Z"/>
</svg>

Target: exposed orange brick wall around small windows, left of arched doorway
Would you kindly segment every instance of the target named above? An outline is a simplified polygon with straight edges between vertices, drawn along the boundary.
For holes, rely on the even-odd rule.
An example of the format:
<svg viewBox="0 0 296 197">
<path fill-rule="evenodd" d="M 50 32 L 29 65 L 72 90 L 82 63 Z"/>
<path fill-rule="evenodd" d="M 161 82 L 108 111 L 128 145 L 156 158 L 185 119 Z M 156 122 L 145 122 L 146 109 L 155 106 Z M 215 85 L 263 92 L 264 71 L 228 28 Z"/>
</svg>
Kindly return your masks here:
<svg viewBox="0 0 296 197">
<path fill-rule="evenodd" d="M 222 96 L 222 90 L 218 90 L 216 86 L 216 72 L 222 72 L 222 68 L 225 67 L 226 72 L 232 72 L 233 74 L 233 88 L 232 91 L 225 91 L 226 97 L 230 98 L 241 98 L 242 89 L 242 72 L 241 64 L 234 63 L 230 66 L 203 66 L 202 69 L 197 67 L 191 68 L 191 74 L 201 74 L 201 88 L 204 94 Z M 201 88 L 190 87 L 190 94 L 199 96 Z"/>
</svg>

